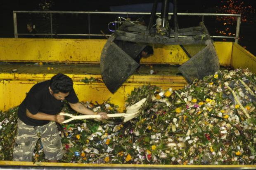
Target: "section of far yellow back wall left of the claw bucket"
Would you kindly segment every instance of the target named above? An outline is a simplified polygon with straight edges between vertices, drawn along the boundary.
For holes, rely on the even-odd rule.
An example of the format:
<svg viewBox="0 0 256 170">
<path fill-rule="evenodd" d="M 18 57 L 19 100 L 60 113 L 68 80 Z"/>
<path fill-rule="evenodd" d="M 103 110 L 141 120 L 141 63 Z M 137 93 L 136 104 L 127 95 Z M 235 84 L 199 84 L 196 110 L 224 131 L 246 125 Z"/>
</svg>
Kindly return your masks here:
<svg viewBox="0 0 256 170">
<path fill-rule="evenodd" d="M 99 62 L 106 40 L 0 39 L 0 61 Z M 97 59 L 97 60 L 95 60 Z"/>
</svg>

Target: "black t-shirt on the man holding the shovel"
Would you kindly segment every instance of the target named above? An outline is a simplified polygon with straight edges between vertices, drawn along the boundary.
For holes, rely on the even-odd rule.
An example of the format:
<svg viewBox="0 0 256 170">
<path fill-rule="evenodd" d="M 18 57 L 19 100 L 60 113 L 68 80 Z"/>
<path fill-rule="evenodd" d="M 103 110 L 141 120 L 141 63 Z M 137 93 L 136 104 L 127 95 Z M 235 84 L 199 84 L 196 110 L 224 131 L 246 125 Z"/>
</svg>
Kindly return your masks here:
<svg viewBox="0 0 256 170">
<path fill-rule="evenodd" d="M 21 121 L 30 126 L 43 126 L 49 123 L 47 120 L 31 119 L 26 115 L 26 109 L 31 114 L 37 114 L 38 112 L 56 115 L 60 112 L 64 102 L 57 100 L 50 94 L 49 91 L 50 80 L 35 84 L 28 92 L 26 98 L 19 105 L 18 117 Z M 78 98 L 74 89 L 72 88 L 69 95 L 65 98 L 70 103 L 77 103 Z"/>
</svg>

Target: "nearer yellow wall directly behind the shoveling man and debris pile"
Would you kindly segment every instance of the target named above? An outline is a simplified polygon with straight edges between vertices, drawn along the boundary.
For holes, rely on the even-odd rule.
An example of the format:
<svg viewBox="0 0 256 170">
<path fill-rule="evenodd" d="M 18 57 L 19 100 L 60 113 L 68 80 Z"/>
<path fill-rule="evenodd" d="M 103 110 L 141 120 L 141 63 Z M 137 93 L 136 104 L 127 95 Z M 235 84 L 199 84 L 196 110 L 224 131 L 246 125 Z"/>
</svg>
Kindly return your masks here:
<svg viewBox="0 0 256 170">
<path fill-rule="evenodd" d="M 187 84 L 181 76 L 136 76 L 133 75 L 128 79 L 130 83 L 124 83 L 116 93 L 109 92 L 104 83 L 89 83 L 81 82 L 85 78 L 99 78 L 100 75 L 69 75 L 74 81 L 74 90 L 78 95 L 79 101 L 92 101 L 102 103 L 108 99 L 110 102 L 120 107 L 119 112 L 125 109 L 125 100 L 127 95 L 133 91 L 135 87 L 144 84 L 160 86 L 163 89 L 173 88 L 180 89 Z M 15 74 L 1 73 L 0 74 L 0 110 L 8 110 L 11 107 L 20 105 L 26 97 L 26 93 L 30 88 L 41 81 L 48 80 L 52 74 Z M 172 82 L 172 83 L 171 83 Z"/>
</svg>

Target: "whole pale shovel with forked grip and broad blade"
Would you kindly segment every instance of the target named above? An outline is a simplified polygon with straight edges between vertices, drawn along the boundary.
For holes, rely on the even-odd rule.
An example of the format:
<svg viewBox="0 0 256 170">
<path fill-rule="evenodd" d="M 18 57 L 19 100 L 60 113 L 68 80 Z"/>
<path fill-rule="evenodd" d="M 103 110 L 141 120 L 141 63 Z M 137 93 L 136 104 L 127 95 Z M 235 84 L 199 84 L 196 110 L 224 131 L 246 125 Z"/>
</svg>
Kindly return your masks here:
<svg viewBox="0 0 256 170">
<path fill-rule="evenodd" d="M 126 110 L 127 110 L 126 113 L 107 114 L 107 116 L 109 116 L 109 117 L 124 117 L 123 122 L 129 121 L 129 120 L 135 118 L 140 113 L 140 109 L 142 108 L 142 106 L 146 102 L 146 100 L 147 100 L 146 98 L 143 98 L 142 100 L 138 101 L 134 105 L 126 107 Z M 59 115 L 71 117 L 70 119 L 63 121 L 62 123 L 67 123 L 67 122 L 70 122 L 70 121 L 76 120 L 76 119 L 101 118 L 99 114 L 74 116 L 74 115 L 68 114 L 68 113 L 60 113 Z"/>
</svg>

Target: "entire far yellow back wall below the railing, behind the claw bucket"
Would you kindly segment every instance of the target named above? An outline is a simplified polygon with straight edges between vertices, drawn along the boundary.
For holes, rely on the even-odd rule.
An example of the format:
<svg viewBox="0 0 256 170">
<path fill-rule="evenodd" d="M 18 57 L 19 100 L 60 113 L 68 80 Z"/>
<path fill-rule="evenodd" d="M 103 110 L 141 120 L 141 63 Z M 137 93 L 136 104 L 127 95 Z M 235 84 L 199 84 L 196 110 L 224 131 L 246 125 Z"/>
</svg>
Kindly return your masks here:
<svg viewBox="0 0 256 170">
<path fill-rule="evenodd" d="M 0 61 L 100 63 L 106 40 L 0 38 Z M 232 42 L 215 42 L 221 65 L 230 65 Z M 201 45 L 184 45 L 194 56 Z M 141 63 L 182 64 L 189 59 L 179 45 L 154 44 L 154 55 Z"/>
</svg>

